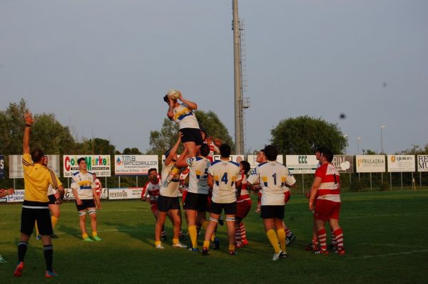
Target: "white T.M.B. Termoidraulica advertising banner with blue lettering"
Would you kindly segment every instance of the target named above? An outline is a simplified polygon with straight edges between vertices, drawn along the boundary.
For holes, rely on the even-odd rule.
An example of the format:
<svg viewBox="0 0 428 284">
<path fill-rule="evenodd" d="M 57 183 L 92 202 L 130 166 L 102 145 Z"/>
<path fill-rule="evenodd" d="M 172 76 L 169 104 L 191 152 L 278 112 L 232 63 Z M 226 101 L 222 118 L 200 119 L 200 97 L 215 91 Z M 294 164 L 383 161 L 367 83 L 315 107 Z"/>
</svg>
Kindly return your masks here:
<svg viewBox="0 0 428 284">
<path fill-rule="evenodd" d="M 115 155 L 115 176 L 142 176 L 148 174 L 148 170 L 158 170 L 157 155 Z"/>
</svg>

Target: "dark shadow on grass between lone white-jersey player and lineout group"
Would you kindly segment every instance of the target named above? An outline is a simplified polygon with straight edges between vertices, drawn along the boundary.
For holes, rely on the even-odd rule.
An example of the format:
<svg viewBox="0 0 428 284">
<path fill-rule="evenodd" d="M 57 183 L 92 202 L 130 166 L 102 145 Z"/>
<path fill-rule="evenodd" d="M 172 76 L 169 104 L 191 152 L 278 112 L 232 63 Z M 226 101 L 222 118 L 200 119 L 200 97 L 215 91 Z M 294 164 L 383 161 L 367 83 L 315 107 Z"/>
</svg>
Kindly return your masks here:
<svg viewBox="0 0 428 284">
<path fill-rule="evenodd" d="M 138 223 L 135 226 L 127 225 L 125 223 L 104 222 L 106 226 L 114 227 L 118 232 L 126 233 L 131 238 L 142 241 L 150 246 L 153 246 L 153 239 L 155 237 L 154 223 L 148 225 L 146 223 Z"/>
</svg>

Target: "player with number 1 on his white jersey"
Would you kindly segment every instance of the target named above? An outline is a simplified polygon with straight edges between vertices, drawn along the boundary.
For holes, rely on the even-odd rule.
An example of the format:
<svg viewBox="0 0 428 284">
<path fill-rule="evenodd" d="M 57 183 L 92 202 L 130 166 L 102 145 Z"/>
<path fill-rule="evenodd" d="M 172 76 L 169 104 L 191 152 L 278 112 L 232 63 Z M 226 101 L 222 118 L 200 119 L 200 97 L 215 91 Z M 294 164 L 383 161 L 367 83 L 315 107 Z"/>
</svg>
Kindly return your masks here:
<svg viewBox="0 0 428 284">
<path fill-rule="evenodd" d="M 284 219 L 285 185 L 293 186 L 296 182 L 287 167 L 276 162 L 277 149 L 275 146 L 267 145 L 264 149 L 267 162 L 258 164 L 248 177 L 248 184 L 260 182 L 262 186 L 262 206 L 260 217 L 263 218 L 263 225 L 270 244 L 275 250 L 272 261 L 287 257 L 285 251 L 285 231 L 282 219 Z M 274 229 L 276 228 L 276 233 Z M 279 245 L 278 245 L 279 241 Z"/>
</svg>

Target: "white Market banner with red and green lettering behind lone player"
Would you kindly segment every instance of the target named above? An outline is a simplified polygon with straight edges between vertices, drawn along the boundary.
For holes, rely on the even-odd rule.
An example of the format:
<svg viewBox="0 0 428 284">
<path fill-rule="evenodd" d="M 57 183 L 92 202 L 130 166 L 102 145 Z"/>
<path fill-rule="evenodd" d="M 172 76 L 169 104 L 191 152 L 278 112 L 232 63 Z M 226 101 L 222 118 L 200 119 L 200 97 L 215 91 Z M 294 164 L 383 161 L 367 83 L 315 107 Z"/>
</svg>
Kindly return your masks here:
<svg viewBox="0 0 428 284">
<path fill-rule="evenodd" d="M 88 172 L 95 173 L 97 177 L 111 176 L 111 158 L 109 155 L 63 155 L 64 177 L 73 177 L 78 172 L 77 160 L 85 158 Z"/>
</svg>

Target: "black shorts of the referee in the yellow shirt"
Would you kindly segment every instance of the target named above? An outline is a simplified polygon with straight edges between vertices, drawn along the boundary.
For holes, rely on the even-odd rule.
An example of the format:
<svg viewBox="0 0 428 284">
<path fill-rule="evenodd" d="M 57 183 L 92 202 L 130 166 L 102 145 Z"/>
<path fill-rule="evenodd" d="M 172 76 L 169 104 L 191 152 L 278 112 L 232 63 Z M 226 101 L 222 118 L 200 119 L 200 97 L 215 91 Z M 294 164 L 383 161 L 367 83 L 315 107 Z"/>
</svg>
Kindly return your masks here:
<svg viewBox="0 0 428 284">
<path fill-rule="evenodd" d="M 53 233 L 49 202 L 24 200 L 21 211 L 21 233 L 31 236 L 36 221 L 41 235 L 50 236 Z"/>
</svg>

